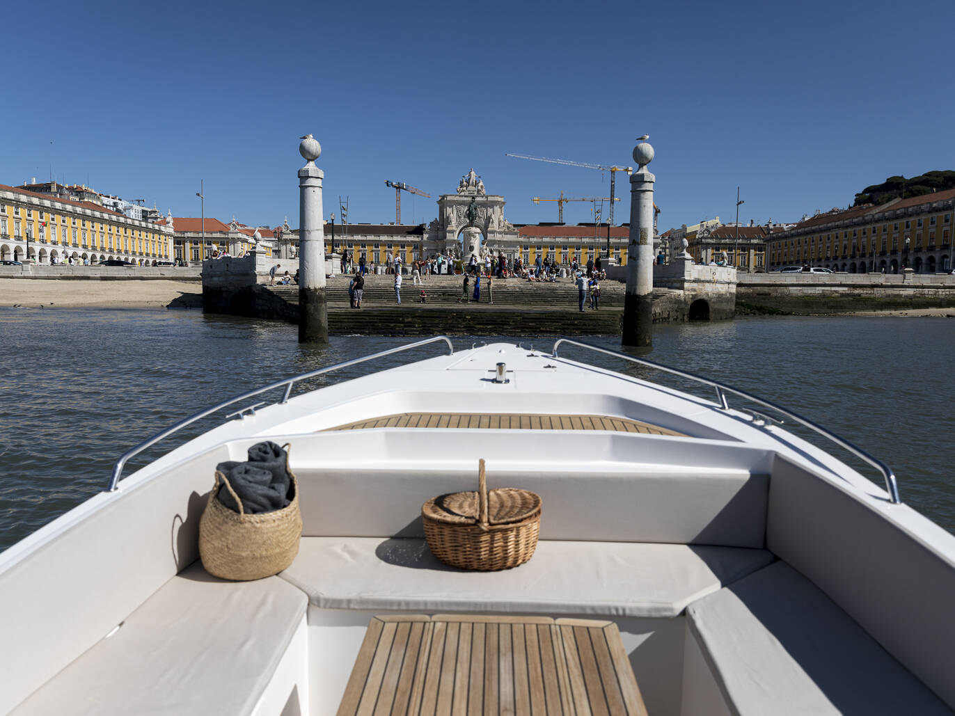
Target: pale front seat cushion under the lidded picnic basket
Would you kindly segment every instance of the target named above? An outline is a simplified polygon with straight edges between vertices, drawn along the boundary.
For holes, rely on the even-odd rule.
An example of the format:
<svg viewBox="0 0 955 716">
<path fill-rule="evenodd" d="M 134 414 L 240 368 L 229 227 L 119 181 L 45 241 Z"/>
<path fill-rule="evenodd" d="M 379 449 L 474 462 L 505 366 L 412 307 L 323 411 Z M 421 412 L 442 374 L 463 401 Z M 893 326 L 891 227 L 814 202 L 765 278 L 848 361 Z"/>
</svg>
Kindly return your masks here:
<svg viewBox="0 0 955 716">
<path fill-rule="evenodd" d="M 328 609 L 666 618 L 773 559 L 741 547 L 541 540 L 515 569 L 465 572 L 423 539 L 303 537 L 280 576 Z"/>
</svg>

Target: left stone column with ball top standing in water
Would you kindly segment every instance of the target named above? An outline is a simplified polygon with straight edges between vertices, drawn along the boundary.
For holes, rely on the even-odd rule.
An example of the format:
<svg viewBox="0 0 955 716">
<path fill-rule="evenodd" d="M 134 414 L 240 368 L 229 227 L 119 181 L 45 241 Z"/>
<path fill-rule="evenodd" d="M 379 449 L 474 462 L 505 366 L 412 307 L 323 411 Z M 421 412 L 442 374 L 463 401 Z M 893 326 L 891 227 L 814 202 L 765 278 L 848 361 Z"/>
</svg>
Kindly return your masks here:
<svg viewBox="0 0 955 716">
<path fill-rule="evenodd" d="M 315 166 L 322 145 L 302 137 L 299 153 L 299 343 L 329 342 L 329 312 L 325 302 L 325 231 L 322 227 L 322 179 Z"/>
</svg>

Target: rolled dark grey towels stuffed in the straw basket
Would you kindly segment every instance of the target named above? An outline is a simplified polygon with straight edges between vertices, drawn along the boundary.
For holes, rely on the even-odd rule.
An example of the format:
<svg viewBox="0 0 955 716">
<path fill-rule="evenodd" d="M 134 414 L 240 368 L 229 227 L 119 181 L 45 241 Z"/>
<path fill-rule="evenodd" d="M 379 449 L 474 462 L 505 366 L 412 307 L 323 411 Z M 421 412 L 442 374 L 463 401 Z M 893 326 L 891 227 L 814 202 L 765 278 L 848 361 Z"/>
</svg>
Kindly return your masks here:
<svg viewBox="0 0 955 716">
<path fill-rule="evenodd" d="M 248 461 L 226 460 L 216 466 L 242 500 L 247 515 L 259 515 L 287 507 L 291 475 L 286 468 L 286 451 L 271 441 L 248 449 Z M 223 505 L 239 512 L 239 505 L 225 485 L 216 495 Z"/>
</svg>

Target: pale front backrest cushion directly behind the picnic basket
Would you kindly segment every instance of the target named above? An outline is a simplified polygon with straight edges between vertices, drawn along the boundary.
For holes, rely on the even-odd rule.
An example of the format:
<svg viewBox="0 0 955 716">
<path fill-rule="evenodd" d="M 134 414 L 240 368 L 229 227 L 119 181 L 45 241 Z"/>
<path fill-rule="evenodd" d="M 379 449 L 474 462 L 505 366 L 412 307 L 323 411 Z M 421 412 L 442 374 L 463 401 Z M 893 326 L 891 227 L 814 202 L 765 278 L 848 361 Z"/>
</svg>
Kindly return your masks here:
<svg viewBox="0 0 955 716">
<path fill-rule="evenodd" d="M 295 473 L 303 534 L 309 537 L 423 537 L 425 501 L 477 489 L 475 471 L 308 468 Z M 752 548 L 765 542 L 765 475 L 489 472 L 488 487 L 541 495 L 541 539 Z"/>
</svg>

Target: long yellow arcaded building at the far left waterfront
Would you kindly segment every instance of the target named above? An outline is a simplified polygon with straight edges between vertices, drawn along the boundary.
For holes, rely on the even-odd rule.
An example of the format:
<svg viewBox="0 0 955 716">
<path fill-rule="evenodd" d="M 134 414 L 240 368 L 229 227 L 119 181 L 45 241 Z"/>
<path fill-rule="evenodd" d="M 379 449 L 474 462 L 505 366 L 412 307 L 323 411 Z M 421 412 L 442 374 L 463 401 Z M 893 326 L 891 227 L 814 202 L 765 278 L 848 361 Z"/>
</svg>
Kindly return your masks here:
<svg viewBox="0 0 955 716">
<path fill-rule="evenodd" d="M 63 200 L 0 184 L 0 261 L 151 265 L 172 261 L 172 231 L 90 200 Z"/>
</svg>

